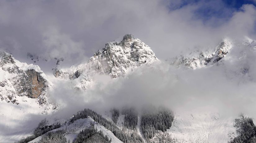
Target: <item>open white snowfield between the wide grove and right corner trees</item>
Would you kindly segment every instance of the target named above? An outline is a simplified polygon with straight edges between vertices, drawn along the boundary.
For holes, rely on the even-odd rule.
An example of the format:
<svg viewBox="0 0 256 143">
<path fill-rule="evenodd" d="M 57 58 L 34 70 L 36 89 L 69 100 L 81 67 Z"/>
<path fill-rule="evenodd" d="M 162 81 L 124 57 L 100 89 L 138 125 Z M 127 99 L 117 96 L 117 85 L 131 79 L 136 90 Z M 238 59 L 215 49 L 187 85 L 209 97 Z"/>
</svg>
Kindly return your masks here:
<svg viewBox="0 0 256 143">
<path fill-rule="evenodd" d="M 218 113 L 177 113 L 168 133 L 182 143 L 219 143 L 236 136 L 235 117 Z"/>
</svg>

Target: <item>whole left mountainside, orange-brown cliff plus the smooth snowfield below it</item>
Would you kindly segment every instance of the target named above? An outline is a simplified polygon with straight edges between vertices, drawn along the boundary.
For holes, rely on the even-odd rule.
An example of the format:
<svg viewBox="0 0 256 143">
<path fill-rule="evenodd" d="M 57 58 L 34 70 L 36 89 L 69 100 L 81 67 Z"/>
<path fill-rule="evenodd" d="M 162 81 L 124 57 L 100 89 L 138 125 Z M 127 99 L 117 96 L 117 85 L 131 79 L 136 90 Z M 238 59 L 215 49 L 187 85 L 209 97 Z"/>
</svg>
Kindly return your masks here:
<svg viewBox="0 0 256 143">
<path fill-rule="evenodd" d="M 30 134 L 38 124 L 31 121 L 33 115 L 56 109 L 47 98 L 52 86 L 40 67 L 21 63 L 0 51 L 0 142 L 14 142 Z"/>
</svg>

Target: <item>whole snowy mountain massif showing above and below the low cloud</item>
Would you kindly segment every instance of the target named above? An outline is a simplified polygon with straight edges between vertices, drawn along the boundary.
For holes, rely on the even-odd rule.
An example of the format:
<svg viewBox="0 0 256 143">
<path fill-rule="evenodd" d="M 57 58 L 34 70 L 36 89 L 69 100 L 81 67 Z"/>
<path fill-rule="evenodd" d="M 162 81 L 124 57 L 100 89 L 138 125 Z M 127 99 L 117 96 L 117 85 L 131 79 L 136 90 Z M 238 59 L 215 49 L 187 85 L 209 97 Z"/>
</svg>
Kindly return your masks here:
<svg viewBox="0 0 256 143">
<path fill-rule="evenodd" d="M 255 40 L 245 38 L 243 41 L 236 41 L 225 38 L 214 48 L 209 48 L 206 51 L 191 51 L 187 55 L 178 55 L 167 61 L 170 67 L 183 68 L 182 70 L 188 72 L 192 71 L 191 69 L 193 72 L 218 69 L 232 81 L 255 81 L 254 71 L 256 69 L 254 60 L 252 60 L 255 58 L 255 51 Z M 56 59 L 56 67 L 53 69 L 54 77 L 49 78 L 50 80 L 48 77 L 52 75 L 45 75 L 38 66 L 20 63 L 11 54 L 4 51 L 0 55 L 0 73 L 2 75 L 0 108 L 3 109 L 1 111 L 3 118 L 1 116 L 0 118 L 7 122 L 5 125 L 14 125 L 13 122 L 16 122 L 17 117 L 22 120 L 25 116 L 37 114 L 36 110 L 41 107 L 43 107 L 43 111 L 40 110 L 40 113 L 54 115 L 55 112 L 52 111 L 58 108 L 55 104 L 50 103 L 48 96 L 55 96 L 50 95 L 49 90 L 56 90 L 54 85 L 57 83 L 56 81 L 71 82 L 72 89 L 75 89 L 71 94 L 75 94 L 77 90 L 86 92 L 93 88 L 94 83 L 97 82 L 95 79 L 97 75 L 118 79 L 129 76 L 142 66 L 154 66 L 152 63 L 161 63 L 150 47 L 130 34 L 124 35 L 121 42 L 106 43 L 105 47 L 98 50 L 88 62 L 82 61 L 78 66 L 61 69 L 59 63 L 65 61 L 62 58 Z M 166 68 L 169 68 L 169 65 L 165 65 Z M 215 89 L 215 87 L 211 88 Z M 11 106 L 5 106 L 6 104 Z M 9 107 L 12 109 L 9 110 Z M 92 136 L 88 137 L 90 140 L 96 137 L 101 138 L 103 134 L 114 143 L 125 142 L 126 139 L 127 142 L 217 143 L 230 141 L 239 135 L 236 132 L 238 128 L 234 127 L 236 116 L 223 117 L 216 112 L 194 113 L 187 111 L 173 114 L 165 110 L 143 112 L 131 108 L 111 111 L 106 109 L 106 112 L 102 112 L 96 113 L 90 109 L 84 109 L 73 113 L 73 116 L 70 115 L 68 119 L 54 118 L 52 119 L 53 123 L 45 122 L 43 125 L 40 123 L 35 132 L 31 132 L 34 130 L 31 128 L 18 132 L 15 129 L 5 137 L 1 138 L 0 136 L 0 140 L 8 142 L 11 139 L 11 141 L 17 141 L 21 137 L 31 137 L 29 141 L 35 142 L 50 136 L 51 132 L 64 130 L 64 137 L 74 141 L 75 138 L 82 136 L 82 131 L 86 133 L 87 129 L 92 126 L 97 128 L 97 131 L 90 130 L 92 133 Z M 17 113 L 17 117 L 13 117 L 12 114 L 15 113 Z M 12 119 L 12 122 L 9 119 Z M 26 120 L 28 123 L 31 119 L 27 118 Z M 27 126 L 28 124 L 24 124 L 18 128 L 27 128 Z M 4 129 L 9 128 L 5 127 Z M 100 131 L 103 133 L 101 134 Z M 1 130 L 0 134 L 4 134 L 4 131 Z"/>
</svg>

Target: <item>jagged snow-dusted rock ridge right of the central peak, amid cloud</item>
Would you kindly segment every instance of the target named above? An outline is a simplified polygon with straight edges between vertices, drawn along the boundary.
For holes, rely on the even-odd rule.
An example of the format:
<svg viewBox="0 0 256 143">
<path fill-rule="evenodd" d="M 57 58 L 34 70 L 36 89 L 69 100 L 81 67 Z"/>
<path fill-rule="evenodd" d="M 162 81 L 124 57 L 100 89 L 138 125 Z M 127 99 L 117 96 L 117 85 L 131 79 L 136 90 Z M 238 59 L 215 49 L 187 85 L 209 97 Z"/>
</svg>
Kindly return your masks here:
<svg viewBox="0 0 256 143">
<path fill-rule="evenodd" d="M 192 52 L 187 56 L 180 55 L 175 58 L 168 59 L 168 61 L 171 65 L 176 67 L 184 65 L 185 67 L 196 69 L 197 67 L 212 65 L 218 62 L 224 58 L 231 48 L 231 41 L 229 39 L 224 39 L 213 52 L 209 50 L 206 52 L 199 52 L 198 55 Z"/>
</svg>

